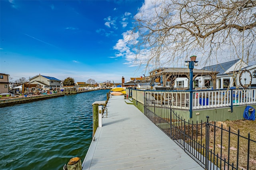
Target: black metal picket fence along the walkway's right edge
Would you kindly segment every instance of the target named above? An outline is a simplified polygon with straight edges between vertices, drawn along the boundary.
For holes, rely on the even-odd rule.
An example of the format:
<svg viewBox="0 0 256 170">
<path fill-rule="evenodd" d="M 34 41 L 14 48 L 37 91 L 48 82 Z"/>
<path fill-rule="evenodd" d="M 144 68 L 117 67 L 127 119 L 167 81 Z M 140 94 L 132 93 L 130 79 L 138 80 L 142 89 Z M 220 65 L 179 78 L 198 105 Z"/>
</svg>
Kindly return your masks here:
<svg viewBox="0 0 256 170">
<path fill-rule="evenodd" d="M 144 114 L 203 168 L 256 169 L 256 141 L 250 133 L 241 136 L 222 122 L 209 122 L 209 117 L 207 122 L 187 122 L 155 100 L 145 103 Z"/>
</svg>

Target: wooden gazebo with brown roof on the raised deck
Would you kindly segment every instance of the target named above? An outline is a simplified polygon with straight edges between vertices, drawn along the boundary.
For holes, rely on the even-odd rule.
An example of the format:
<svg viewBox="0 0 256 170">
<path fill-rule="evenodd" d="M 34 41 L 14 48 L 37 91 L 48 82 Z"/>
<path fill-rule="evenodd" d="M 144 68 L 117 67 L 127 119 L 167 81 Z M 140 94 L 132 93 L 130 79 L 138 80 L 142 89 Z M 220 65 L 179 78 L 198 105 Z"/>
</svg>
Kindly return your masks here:
<svg viewBox="0 0 256 170">
<path fill-rule="evenodd" d="M 209 75 L 213 82 L 213 88 L 216 89 L 216 75 L 217 71 L 208 71 L 201 69 L 193 69 L 193 81 L 198 76 L 207 76 Z M 178 77 L 186 77 L 190 79 L 190 69 L 188 68 L 159 68 L 150 71 L 151 82 L 162 83 L 163 87 L 166 87 L 166 82 L 171 82 L 171 85 L 174 86 L 175 79 Z"/>
</svg>

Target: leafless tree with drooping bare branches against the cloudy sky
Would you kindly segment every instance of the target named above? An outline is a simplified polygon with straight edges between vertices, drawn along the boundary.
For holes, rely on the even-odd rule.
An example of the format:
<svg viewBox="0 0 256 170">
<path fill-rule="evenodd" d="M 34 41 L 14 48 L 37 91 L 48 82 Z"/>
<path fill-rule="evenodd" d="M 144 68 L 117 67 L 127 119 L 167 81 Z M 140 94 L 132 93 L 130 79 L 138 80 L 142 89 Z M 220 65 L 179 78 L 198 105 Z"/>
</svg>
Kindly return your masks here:
<svg viewBox="0 0 256 170">
<path fill-rule="evenodd" d="M 255 0 L 158 0 L 153 5 L 135 17 L 130 42 L 138 47 L 136 64 L 181 65 L 191 55 L 201 65 L 256 61 Z"/>
</svg>

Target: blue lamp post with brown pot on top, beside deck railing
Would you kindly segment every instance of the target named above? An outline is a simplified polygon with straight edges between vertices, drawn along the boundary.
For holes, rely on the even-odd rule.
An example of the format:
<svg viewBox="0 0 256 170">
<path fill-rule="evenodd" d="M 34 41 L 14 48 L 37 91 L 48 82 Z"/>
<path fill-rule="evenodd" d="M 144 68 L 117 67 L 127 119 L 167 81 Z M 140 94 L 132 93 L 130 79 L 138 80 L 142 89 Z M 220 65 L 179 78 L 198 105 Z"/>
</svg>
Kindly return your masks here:
<svg viewBox="0 0 256 170">
<path fill-rule="evenodd" d="M 190 80 L 189 80 L 189 112 L 190 118 L 192 118 L 192 106 L 193 106 L 193 69 L 194 66 L 198 66 L 198 61 L 196 61 L 196 55 L 190 57 L 190 61 L 185 61 L 185 65 L 189 68 Z"/>
</svg>

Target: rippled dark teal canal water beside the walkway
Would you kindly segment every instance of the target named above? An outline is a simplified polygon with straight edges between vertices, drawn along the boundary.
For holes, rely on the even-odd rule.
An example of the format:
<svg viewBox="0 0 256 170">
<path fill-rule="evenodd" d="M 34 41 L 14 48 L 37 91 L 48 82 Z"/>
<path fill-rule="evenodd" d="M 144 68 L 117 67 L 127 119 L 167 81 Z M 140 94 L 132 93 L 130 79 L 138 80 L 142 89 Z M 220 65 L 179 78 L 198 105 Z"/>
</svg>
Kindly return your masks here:
<svg viewBox="0 0 256 170">
<path fill-rule="evenodd" d="M 62 170 L 84 160 L 92 140 L 92 103 L 109 90 L 0 108 L 1 170 Z"/>
</svg>

